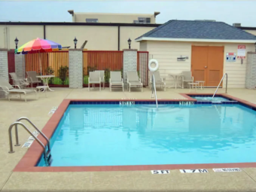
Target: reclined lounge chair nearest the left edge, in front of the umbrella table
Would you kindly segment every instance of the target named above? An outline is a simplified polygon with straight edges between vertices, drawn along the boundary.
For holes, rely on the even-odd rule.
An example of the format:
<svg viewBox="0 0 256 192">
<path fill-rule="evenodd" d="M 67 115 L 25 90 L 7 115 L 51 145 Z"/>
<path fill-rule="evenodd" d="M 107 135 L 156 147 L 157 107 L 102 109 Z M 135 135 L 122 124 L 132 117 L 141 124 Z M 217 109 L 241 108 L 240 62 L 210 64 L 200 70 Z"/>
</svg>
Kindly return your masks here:
<svg viewBox="0 0 256 192">
<path fill-rule="evenodd" d="M 10 94 L 24 94 L 25 96 L 25 102 L 26 102 L 26 95 L 29 93 L 35 93 L 35 99 L 37 99 L 37 92 L 36 90 L 25 90 L 25 89 L 14 89 L 14 87 L 11 86 L 11 84 L 9 84 L 9 82 L 5 79 L 0 77 L 0 87 L 2 88 L 2 90 L 8 94 L 8 100 L 10 101 Z M 17 86 L 19 87 L 19 86 Z M 21 96 L 20 96 L 21 99 Z"/>
</svg>

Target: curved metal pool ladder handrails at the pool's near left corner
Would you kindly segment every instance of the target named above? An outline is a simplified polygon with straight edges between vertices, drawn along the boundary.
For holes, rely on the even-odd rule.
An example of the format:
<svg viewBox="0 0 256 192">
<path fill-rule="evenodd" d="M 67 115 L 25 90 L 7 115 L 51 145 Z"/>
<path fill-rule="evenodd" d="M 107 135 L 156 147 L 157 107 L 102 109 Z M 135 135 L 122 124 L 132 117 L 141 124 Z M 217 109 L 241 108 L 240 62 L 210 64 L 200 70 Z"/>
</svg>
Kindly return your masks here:
<svg viewBox="0 0 256 192">
<path fill-rule="evenodd" d="M 44 137 L 44 139 L 47 141 L 47 146 L 44 146 L 44 144 L 37 138 L 34 136 L 34 134 L 28 129 L 28 127 L 26 127 L 26 125 L 24 123 L 21 123 L 20 120 L 26 120 L 28 121 L 34 128 L 35 130 L 38 131 L 38 133 L 41 134 L 41 136 Z M 15 137 L 16 137 L 16 144 L 15 146 L 20 146 L 19 144 L 19 136 L 18 136 L 18 125 L 23 126 L 23 128 L 29 133 L 30 136 L 32 136 L 35 141 L 38 142 L 39 145 L 41 145 L 41 147 L 44 149 L 44 162 L 46 166 L 50 166 L 50 164 L 52 163 L 53 159 L 52 156 L 50 154 L 50 141 L 47 138 L 47 136 L 44 135 L 44 133 L 42 133 L 40 130 L 38 130 L 38 127 L 35 126 L 34 123 L 31 122 L 31 120 L 29 120 L 27 117 L 20 117 L 19 119 L 17 119 L 14 123 L 11 123 L 11 126 L 9 126 L 9 145 L 10 145 L 10 151 L 9 153 L 12 154 L 14 153 L 14 148 L 13 148 L 13 142 L 12 142 L 12 136 L 11 136 L 11 130 L 12 128 L 15 126 Z"/>
</svg>

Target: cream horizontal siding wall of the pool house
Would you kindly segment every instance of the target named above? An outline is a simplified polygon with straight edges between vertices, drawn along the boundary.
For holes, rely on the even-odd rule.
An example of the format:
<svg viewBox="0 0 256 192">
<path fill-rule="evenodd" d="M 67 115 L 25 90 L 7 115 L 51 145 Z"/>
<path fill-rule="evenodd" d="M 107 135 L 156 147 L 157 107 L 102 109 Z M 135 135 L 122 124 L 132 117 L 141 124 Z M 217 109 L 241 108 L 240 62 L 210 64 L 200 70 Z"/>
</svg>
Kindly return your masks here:
<svg viewBox="0 0 256 192">
<path fill-rule="evenodd" d="M 149 59 L 157 59 L 159 62 L 159 71 L 163 78 L 166 78 L 167 86 L 171 85 L 172 78 L 169 73 L 182 72 L 191 69 L 191 47 L 197 46 L 224 46 L 224 73 L 228 75 L 228 87 L 245 88 L 245 68 L 246 59 L 241 64 L 240 59 L 236 62 L 226 62 L 226 53 L 237 53 L 239 44 L 230 43 L 197 43 L 197 42 L 174 42 L 174 41 L 146 41 L 142 42 L 140 50 L 148 50 Z M 246 46 L 246 52 L 254 51 L 254 44 L 242 44 Z M 186 61 L 177 61 L 178 56 L 189 56 Z M 224 81 L 225 87 L 225 81 Z"/>
</svg>

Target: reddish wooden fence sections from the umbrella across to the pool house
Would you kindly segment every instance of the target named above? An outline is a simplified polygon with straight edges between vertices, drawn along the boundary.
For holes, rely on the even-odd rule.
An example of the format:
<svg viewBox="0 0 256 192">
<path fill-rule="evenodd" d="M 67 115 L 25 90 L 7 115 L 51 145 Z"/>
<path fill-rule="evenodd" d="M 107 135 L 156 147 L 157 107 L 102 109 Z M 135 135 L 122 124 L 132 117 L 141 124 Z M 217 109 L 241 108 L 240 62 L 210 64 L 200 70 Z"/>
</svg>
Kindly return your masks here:
<svg viewBox="0 0 256 192">
<path fill-rule="evenodd" d="M 40 56 L 40 57 L 39 57 Z M 40 75 L 55 75 L 49 84 L 53 87 L 69 87 L 69 51 L 26 54 L 26 72 L 35 71 Z M 85 50 L 83 51 L 83 83 L 87 87 L 89 72 L 105 71 L 105 83 L 108 84 L 111 71 L 120 71 L 123 75 L 123 51 Z M 137 70 L 143 86 L 148 86 L 148 52 L 137 52 Z"/>
</svg>

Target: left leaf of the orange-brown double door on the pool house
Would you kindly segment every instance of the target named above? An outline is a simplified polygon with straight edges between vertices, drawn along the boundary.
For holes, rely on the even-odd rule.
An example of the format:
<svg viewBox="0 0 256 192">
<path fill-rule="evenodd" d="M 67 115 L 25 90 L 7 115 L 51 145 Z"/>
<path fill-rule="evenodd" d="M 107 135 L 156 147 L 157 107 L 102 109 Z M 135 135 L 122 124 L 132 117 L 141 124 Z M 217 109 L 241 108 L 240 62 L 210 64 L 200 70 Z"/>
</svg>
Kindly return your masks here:
<svg viewBox="0 0 256 192">
<path fill-rule="evenodd" d="M 192 46 L 191 71 L 194 81 L 206 81 L 208 47 Z"/>
</svg>

